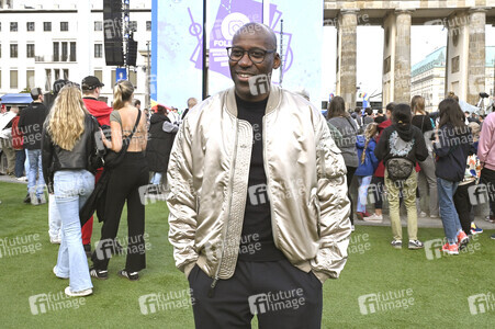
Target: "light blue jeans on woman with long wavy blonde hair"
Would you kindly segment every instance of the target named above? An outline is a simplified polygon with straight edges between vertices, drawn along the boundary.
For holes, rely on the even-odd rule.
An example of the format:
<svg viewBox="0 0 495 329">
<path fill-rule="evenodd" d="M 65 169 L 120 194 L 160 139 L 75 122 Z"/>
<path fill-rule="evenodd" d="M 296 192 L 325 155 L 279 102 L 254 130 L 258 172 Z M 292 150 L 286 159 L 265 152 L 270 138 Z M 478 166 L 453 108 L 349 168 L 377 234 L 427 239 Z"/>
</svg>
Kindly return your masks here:
<svg viewBox="0 0 495 329">
<path fill-rule="evenodd" d="M 79 209 L 94 189 L 94 175 L 86 170 L 55 172 L 55 203 L 61 218 L 61 243 L 55 273 L 70 279 L 72 292 L 91 288 L 88 260 L 82 247 Z"/>
</svg>

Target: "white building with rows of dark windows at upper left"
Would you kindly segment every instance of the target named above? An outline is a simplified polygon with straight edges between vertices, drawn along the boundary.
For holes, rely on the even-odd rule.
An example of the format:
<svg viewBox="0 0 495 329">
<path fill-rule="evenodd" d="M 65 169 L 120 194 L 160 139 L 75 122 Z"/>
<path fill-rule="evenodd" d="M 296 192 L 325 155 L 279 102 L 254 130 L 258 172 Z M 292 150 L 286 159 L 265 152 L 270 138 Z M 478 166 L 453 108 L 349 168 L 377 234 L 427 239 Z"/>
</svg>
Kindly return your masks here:
<svg viewBox="0 0 495 329">
<path fill-rule="evenodd" d="M 133 0 L 130 21 L 138 42 L 136 67 L 128 79 L 135 98 L 146 99 L 146 43 L 151 39 L 151 0 Z M 115 67 L 105 64 L 102 0 L 0 0 L 0 94 L 67 78 L 80 83 L 97 76 L 110 101 Z"/>
</svg>

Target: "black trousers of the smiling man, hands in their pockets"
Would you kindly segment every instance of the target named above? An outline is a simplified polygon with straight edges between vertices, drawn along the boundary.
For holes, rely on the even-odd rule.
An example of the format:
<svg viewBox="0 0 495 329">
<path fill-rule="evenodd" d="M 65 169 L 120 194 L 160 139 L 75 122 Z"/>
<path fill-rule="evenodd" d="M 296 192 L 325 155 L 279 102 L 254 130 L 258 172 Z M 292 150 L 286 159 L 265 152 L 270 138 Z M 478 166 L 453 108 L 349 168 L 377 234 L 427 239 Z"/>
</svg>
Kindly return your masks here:
<svg viewBox="0 0 495 329">
<path fill-rule="evenodd" d="M 238 261 L 234 275 L 218 280 L 213 296 L 213 279 L 198 265 L 189 274 L 195 328 L 251 328 L 254 314 L 260 329 L 316 329 L 322 327 L 322 283 L 288 260 Z"/>
</svg>

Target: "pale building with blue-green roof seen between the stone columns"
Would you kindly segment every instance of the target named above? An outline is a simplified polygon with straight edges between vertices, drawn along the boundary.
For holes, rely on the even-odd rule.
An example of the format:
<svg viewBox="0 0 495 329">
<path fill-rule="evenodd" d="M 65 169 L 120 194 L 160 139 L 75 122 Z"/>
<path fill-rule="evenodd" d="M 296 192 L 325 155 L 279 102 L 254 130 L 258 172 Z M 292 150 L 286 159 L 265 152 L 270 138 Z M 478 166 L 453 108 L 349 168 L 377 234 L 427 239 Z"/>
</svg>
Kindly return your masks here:
<svg viewBox="0 0 495 329">
<path fill-rule="evenodd" d="M 415 64 L 410 72 L 410 95 L 421 95 L 425 98 L 426 111 L 436 111 L 438 103 L 446 97 L 446 56 L 447 47 L 438 48 L 421 61 Z M 495 47 L 485 48 L 485 76 L 484 90 L 480 92 L 487 92 L 493 97 L 494 94 L 494 60 Z M 452 69 L 452 67 L 451 67 Z M 459 81 L 453 81 L 448 88 L 447 92 L 453 91 L 455 94 L 460 93 Z M 475 104 L 475 103 L 473 103 Z"/>
</svg>

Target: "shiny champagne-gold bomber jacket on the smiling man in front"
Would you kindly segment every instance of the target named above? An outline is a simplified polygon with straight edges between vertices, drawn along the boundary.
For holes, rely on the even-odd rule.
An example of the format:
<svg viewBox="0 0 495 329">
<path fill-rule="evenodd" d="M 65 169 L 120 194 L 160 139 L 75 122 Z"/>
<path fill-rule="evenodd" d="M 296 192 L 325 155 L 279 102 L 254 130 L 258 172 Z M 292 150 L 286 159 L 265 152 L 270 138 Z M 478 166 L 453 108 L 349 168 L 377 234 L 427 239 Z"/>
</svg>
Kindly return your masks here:
<svg viewBox="0 0 495 329">
<path fill-rule="evenodd" d="M 167 172 L 169 240 L 185 275 L 195 263 L 214 280 L 234 274 L 252 135 L 237 118 L 234 88 L 193 107 L 177 134 Z M 325 117 L 271 86 L 262 138 L 277 248 L 322 283 L 337 279 L 347 261 L 350 202 L 344 158 Z"/>
</svg>

